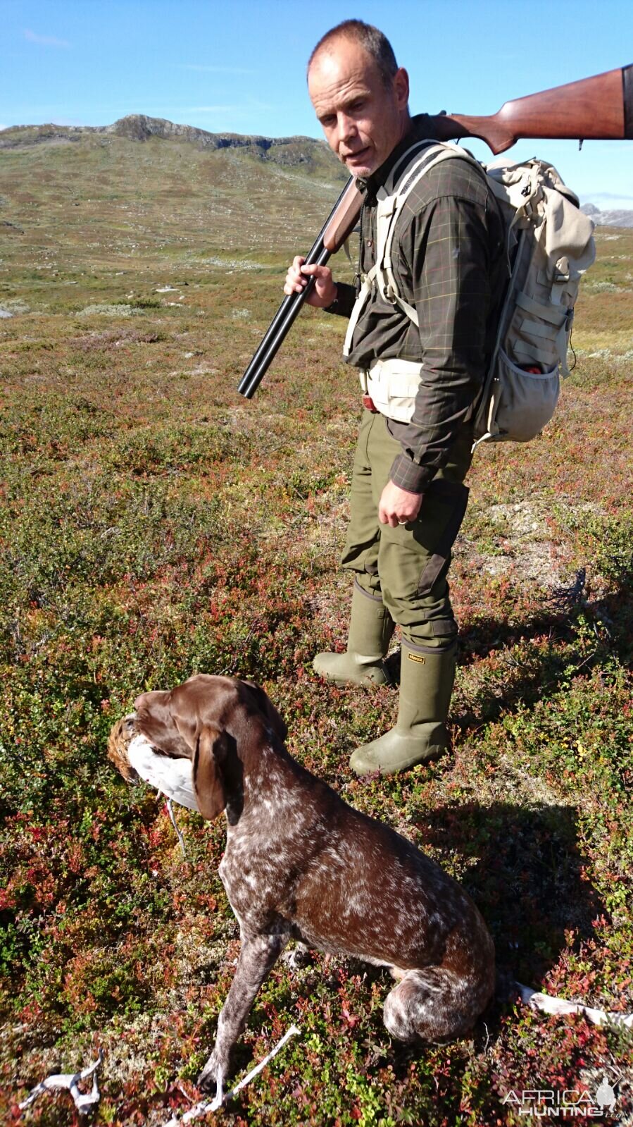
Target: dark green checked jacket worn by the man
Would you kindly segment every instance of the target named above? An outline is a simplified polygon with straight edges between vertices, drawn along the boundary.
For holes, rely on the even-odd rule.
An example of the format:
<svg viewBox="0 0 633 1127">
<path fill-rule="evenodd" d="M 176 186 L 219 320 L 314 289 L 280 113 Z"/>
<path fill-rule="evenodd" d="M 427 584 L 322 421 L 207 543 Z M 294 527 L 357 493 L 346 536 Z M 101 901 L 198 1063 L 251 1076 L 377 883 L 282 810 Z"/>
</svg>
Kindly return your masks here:
<svg viewBox="0 0 633 1127">
<path fill-rule="evenodd" d="M 407 149 L 433 136 L 430 118 L 413 117 L 385 163 L 357 181 L 364 195 L 358 275 L 375 263 L 376 192 Z M 494 344 L 507 264 L 503 220 L 484 175 L 455 158 L 422 177 L 398 219 L 392 258 L 400 292 L 418 311 L 419 328 L 375 287 L 358 319 L 348 363 L 360 369 L 392 357 L 424 363 L 411 421 L 387 420 L 402 447 L 391 480 L 424 492 L 470 420 Z M 349 317 L 356 292 L 339 283 L 330 310 Z"/>
</svg>

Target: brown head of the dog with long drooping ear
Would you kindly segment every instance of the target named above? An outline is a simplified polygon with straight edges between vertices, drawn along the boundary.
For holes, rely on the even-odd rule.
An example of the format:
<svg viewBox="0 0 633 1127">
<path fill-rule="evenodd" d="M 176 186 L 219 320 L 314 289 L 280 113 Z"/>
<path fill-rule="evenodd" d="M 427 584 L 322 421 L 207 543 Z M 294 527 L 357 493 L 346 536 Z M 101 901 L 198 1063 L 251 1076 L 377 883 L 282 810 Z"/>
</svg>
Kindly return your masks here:
<svg viewBox="0 0 633 1127">
<path fill-rule="evenodd" d="M 244 766 L 262 743 L 286 738 L 286 726 L 264 690 L 237 677 L 198 674 L 175 689 L 142 693 L 134 708 L 135 729 L 153 747 L 193 761 L 198 809 L 209 819 L 229 802 L 240 804 Z"/>
</svg>

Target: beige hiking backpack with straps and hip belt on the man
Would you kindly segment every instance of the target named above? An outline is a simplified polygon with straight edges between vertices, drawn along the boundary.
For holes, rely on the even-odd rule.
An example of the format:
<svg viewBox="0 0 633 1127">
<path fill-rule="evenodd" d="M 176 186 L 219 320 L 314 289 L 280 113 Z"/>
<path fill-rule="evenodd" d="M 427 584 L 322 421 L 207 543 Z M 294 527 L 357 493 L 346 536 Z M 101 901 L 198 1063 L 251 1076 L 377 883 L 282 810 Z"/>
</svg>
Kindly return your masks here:
<svg viewBox="0 0 633 1127">
<path fill-rule="evenodd" d="M 544 161 L 500 161 L 487 167 L 455 144 L 434 141 L 408 150 L 378 193 L 376 265 L 363 281 L 344 350 L 349 353 L 358 316 L 374 285 L 384 301 L 398 303 L 418 323 L 416 309 L 399 293 L 392 268 L 395 225 L 419 180 L 443 160 L 456 158 L 487 177 L 500 203 L 509 273 L 492 356 L 473 409 L 474 445 L 528 442 L 552 418 L 560 376 L 570 374 L 567 352 L 573 305 L 580 278 L 596 257 L 592 221 L 579 210 L 578 197 L 555 168 Z M 378 410 L 409 420 L 421 366 L 395 358 L 378 361 L 362 374 L 360 382 Z"/>
</svg>

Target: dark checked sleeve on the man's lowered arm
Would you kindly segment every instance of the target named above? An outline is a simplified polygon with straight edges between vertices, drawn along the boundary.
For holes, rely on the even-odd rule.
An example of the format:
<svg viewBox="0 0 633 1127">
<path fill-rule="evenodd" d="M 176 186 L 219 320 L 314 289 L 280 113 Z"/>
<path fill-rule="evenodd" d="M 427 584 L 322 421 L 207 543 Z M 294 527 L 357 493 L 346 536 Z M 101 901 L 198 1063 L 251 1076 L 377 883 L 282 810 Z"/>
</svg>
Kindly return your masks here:
<svg viewBox="0 0 633 1127">
<path fill-rule="evenodd" d="M 489 255 L 485 207 L 458 196 L 433 199 L 400 237 L 399 274 L 413 294 L 424 369 L 411 421 L 390 420 L 402 445 L 391 480 L 412 492 L 446 463 L 483 383 Z"/>
</svg>

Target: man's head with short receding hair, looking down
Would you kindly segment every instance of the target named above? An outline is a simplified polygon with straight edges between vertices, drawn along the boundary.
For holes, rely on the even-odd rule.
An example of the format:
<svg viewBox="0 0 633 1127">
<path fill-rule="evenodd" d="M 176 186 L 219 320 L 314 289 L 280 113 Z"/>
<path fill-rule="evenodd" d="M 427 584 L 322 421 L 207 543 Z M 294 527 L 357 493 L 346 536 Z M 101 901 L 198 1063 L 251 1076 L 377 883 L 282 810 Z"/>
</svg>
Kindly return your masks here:
<svg viewBox="0 0 633 1127">
<path fill-rule="evenodd" d="M 366 178 L 409 127 L 409 77 L 376 27 L 348 19 L 324 35 L 307 89 L 326 140 L 353 176 Z"/>
</svg>

